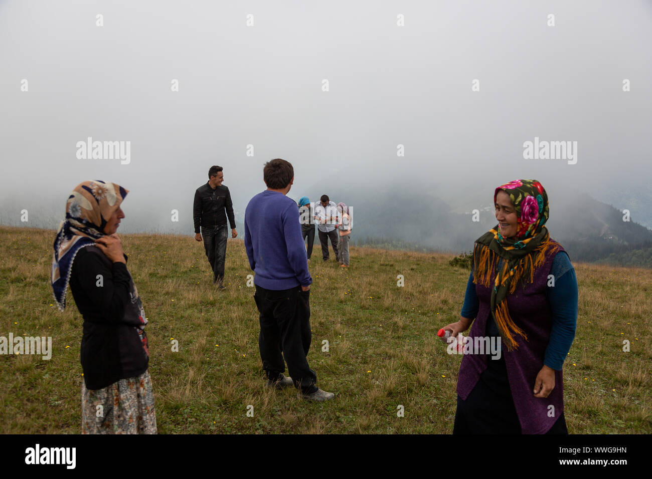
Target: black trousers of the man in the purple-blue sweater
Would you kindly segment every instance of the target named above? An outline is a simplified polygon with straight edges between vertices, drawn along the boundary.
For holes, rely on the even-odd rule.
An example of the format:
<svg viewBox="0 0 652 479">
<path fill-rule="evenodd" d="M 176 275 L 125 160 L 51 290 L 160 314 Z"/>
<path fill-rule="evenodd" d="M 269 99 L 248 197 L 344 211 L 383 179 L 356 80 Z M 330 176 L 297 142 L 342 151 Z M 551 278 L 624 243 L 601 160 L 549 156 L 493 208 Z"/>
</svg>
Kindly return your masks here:
<svg viewBox="0 0 652 479">
<path fill-rule="evenodd" d="M 278 379 L 288 363 L 295 388 L 304 394 L 318 389 L 317 375 L 308 366 L 310 332 L 310 291 L 301 286 L 274 291 L 256 285 L 254 300 L 260 313 L 258 347 L 267 379 Z"/>
</svg>

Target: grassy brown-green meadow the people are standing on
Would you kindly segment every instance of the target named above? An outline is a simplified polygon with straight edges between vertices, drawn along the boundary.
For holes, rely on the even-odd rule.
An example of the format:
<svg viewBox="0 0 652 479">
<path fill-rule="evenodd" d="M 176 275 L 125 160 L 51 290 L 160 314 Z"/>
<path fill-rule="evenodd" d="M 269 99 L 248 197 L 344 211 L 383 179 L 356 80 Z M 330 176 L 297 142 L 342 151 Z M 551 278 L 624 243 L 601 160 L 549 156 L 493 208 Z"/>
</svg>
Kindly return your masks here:
<svg viewBox="0 0 652 479">
<path fill-rule="evenodd" d="M 0 227 L 0 336 L 52 336 L 53 349 L 50 360 L 0 356 L 0 433 L 81 431 L 82 317 L 69 290 L 65 312 L 54 306 L 54 235 Z M 452 255 L 352 247 L 344 270 L 332 250 L 323 263 L 316 245 L 308 361 L 336 398 L 307 403 L 293 389 L 265 387 L 243 240 L 228 241 L 228 289 L 218 291 L 192 237 L 121 238 L 149 319 L 159 433 L 452 432 L 461 357 L 436 338 L 464 301 L 468 271 L 451 267 Z M 574 266 L 580 307 L 564 364 L 569 432 L 652 433 L 652 270 Z"/>
</svg>

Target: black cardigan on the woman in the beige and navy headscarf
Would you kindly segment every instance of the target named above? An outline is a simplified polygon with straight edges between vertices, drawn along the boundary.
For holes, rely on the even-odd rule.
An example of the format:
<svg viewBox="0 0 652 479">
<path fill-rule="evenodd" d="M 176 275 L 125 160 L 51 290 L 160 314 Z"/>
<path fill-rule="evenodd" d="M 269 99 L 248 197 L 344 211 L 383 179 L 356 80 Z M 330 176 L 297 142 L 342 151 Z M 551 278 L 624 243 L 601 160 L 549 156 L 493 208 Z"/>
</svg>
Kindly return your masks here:
<svg viewBox="0 0 652 479">
<path fill-rule="evenodd" d="M 126 259 L 126 256 L 125 256 Z M 101 282 L 98 275 L 101 275 Z M 75 256 L 70 291 L 83 317 L 82 370 L 88 389 L 102 389 L 147 371 L 144 314 L 125 263 L 111 263 L 96 246 Z"/>
</svg>

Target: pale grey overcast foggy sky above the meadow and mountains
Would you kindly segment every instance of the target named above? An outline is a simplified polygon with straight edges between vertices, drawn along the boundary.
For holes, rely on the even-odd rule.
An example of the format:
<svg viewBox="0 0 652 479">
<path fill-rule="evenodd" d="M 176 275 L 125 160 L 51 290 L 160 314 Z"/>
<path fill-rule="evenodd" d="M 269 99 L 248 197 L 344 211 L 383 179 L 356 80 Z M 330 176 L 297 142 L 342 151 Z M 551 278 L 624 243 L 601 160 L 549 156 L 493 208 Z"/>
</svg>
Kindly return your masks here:
<svg viewBox="0 0 652 479">
<path fill-rule="evenodd" d="M 130 190 L 121 231 L 192 234 L 211 165 L 243 213 L 276 157 L 293 199 L 419 184 L 459 207 L 517 178 L 551 202 L 650 192 L 651 45 L 636 0 L 0 0 L 0 220 L 55 227 L 102 179 Z M 130 162 L 78 158 L 88 137 L 130 141 Z M 524 159 L 535 137 L 576 141 L 576 164 Z"/>
</svg>

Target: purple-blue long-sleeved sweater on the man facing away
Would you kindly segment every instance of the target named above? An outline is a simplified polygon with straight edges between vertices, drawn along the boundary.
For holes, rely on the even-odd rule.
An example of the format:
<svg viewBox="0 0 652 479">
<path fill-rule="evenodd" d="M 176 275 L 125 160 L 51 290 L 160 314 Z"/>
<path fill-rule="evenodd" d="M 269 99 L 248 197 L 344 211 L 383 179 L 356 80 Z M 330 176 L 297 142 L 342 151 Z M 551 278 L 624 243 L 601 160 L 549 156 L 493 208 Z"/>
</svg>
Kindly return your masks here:
<svg viewBox="0 0 652 479">
<path fill-rule="evenodd" d="M 256 273 L 254 284 L 278 291 L 312 283 L 297 203 L 284 194 L 265 190 L 249 201 L 244 248 Z"/>
</svg>

